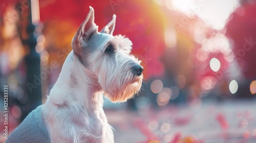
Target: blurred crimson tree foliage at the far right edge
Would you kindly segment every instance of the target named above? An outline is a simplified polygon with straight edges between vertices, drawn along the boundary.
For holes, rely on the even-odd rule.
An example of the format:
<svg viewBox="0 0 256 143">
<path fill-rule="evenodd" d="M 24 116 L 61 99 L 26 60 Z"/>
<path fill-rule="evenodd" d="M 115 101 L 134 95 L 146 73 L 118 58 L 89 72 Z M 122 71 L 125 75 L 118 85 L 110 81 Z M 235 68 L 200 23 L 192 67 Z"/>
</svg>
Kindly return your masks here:
<svg viewBox="0 0 256 143">
<path fill-rule="evenodd" d="M 233 40 L 233 51 L 246 78 L 255 78 L 256 3 L 239 7 L 227 23 L 226 35 Z"/>
</svg>

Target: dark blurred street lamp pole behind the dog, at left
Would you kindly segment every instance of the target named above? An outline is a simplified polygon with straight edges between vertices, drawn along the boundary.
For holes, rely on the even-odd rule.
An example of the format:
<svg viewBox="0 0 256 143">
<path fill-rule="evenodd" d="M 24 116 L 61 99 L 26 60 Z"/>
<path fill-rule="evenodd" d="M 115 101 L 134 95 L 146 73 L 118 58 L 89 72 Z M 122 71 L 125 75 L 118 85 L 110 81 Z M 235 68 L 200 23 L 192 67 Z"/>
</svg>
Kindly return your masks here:
<svg viewBox="0 0 256 143">
<path fill-rule="evenodd" d="M 23 120 L 29 112 L 42 104 L 41 96 L 41 76 L 40 76 L 40 55 L 36 52 L 37 37 L 36 27 L 39 23 L 39 6 L 38 0 L 30 0 L 30 7 L 25 14 L 28 20 L 26 26 L 26 35 L 28 38 L 22 37 L 24 46 L 29 49 L 28 55 L 25 56 L 24 61 L 26 65 L 26 85 L 25 89 L 28 96 L 28 102 L 24 106 L 21 120 Z"/>
</svg>

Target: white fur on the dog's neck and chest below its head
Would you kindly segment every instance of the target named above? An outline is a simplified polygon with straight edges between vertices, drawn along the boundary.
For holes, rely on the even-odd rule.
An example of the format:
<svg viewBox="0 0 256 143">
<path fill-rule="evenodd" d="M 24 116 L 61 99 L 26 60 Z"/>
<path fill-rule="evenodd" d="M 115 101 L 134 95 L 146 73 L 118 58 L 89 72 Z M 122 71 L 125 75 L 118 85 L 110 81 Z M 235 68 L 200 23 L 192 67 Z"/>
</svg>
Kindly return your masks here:
<svg viewBox="0 0 256 143">
<path fill-rule="evenodd" d="M 73 60 L 72 60 L 73 59 Z M 77 87 L 71 87 L 71 75 Z M 68 55 L 42 113 L 51 142 L 114 142 L 113 131 L 102 109 L 102 91 L 73 51 Z M 77 99 L 77 100 L 75 100 Z"/>
</svg>

